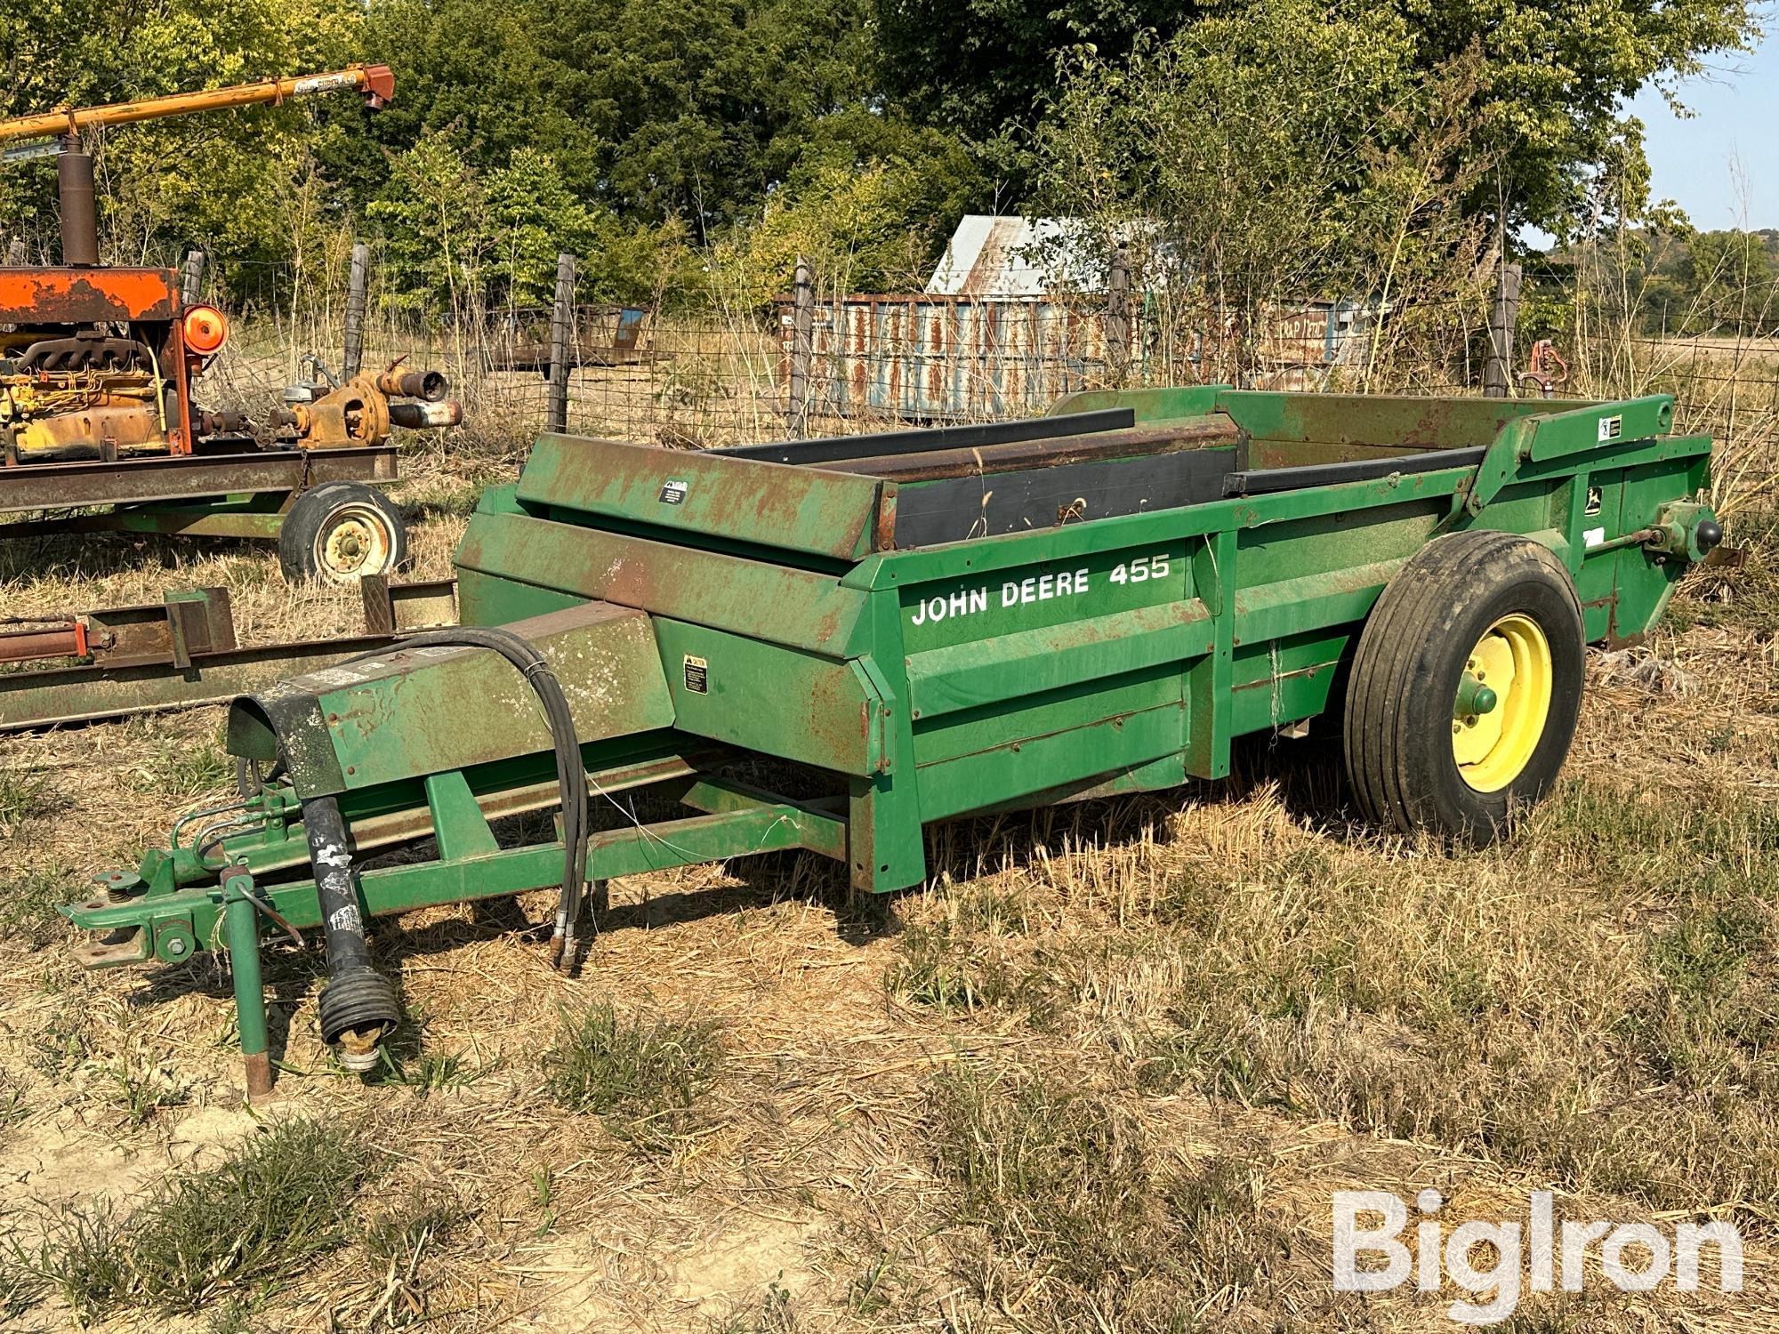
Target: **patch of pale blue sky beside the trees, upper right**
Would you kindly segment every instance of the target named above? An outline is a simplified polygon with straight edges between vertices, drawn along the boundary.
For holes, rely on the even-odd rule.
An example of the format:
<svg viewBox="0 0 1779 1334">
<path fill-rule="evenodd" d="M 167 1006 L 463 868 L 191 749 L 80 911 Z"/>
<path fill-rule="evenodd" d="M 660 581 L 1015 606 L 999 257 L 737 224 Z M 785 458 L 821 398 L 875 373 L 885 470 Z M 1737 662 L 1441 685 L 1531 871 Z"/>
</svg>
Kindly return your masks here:
<svg viewBox="0 0 1779 1334">
<path fill-rule="evenodd" d="M 1630 105 L 1647 130 L 1656 199 L 1672 199 L 1703 231 L 1779 228 L 1779 21 L 1747 55 L 1717 57 L 1711 75 L 1688 78 L 1679 119 L 1654 89 Z"/>
</svg>

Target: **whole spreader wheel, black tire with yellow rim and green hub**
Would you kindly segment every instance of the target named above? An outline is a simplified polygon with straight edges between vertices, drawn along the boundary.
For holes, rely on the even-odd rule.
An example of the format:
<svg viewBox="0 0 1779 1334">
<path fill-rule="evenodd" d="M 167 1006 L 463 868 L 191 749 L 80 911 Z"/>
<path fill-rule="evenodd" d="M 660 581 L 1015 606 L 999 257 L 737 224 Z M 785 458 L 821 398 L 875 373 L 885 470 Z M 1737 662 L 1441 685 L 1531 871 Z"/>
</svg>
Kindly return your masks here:
<svg viewBox="0 0 1779 1334">
<path fill-rule="evenodd" d="M 1364 816 L 1493 843 L 1569 754 L 1583 646 L 1574 582 L 1548 548 L 1505 532 L 1421 548 L 1352 660 L 1347 777 Z"/>
</svg>

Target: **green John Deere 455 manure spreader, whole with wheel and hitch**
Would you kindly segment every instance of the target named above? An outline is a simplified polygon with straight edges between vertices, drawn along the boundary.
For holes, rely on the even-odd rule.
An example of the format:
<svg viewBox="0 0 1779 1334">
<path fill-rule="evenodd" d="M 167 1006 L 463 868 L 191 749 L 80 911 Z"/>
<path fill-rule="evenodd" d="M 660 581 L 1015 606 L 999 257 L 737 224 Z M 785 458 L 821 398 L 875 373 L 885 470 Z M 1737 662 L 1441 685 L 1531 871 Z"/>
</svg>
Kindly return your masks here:
<svg viewBox="0 0 1779 1334">
<path fill-rule="evenodd" d="M 902 889 L 934 820 L 1222 777 L 1320 715 L 1368 820 L 1484 843 L 1560 768 L 1583 644 L 1646 635 L 1722 537 L 1672 411 L 1203 386 L 544 436 L 457 550 L 464 630 L 238 699 L 251 793 L 68 912 L 93 966 L 228 944 L 258 1090 L 262 939 L 320 928 L 366 1069 L 398 1012 L 366 918 L 557 888 L 573 966 L 612 877 L 806 848 Z"/>
</svg>

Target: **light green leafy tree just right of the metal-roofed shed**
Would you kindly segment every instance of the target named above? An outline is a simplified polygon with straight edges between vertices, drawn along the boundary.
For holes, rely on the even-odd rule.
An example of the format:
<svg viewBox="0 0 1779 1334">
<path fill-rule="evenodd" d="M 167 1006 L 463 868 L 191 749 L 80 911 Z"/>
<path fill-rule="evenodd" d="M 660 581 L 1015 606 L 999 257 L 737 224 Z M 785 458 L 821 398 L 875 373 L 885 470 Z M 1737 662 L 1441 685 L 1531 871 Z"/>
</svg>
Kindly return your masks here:
<svg viewBox="0 0 1779 1334">
<path fill-rule="evenodd" d="M 1037 199 L 1076 219 L 1055 244 L 1089 269 L 1126 251 L 1160 336 L 1206 377 L 1263 361 L 1279 308 L 1350 295 L 1372 308 L 1368 379 L 1409 333 L 1400 309 L 1475 283 L 1489 228 L 1464 197 L 1487 164 L 1462 160 L 1455 108 L 1480 78 L 1475 55 L 1423 75 L 1389 11 L 1272 0 L 1124 60 L 1075 57 Z"/>
</svg>

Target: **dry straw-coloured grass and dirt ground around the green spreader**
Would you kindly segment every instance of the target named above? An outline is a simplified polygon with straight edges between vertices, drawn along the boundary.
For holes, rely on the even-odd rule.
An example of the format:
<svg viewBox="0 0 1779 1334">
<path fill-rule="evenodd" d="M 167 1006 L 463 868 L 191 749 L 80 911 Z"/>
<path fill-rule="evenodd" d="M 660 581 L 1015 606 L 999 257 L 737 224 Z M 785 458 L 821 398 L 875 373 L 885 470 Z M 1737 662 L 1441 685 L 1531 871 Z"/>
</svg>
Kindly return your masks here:
<svg viewBox="0 0 1779 1334">
<path fill-rule="evenodd" d="M 443 575 L 480 478 L 413 471 Z M 1338 751 L 1277 740 L 939 827 L 884 900 L 806 857 L 614 882 L 571 980 L 548 895 L 413 914 L 375 936 L 407 1021 L 368 1081 L 318 1041 L 315 952 L 269 950 L 254 1108 L 215 955 L 89 975 L 52 911 L 228 788 L 221 711 L 0 740 L 0 1325 L 1436 1330 L 1450 1281 L 1329 1272 L 1334 1190 L 1434 1186 L 1448 1231 L 1551 1190 L 1745 1233 L 1740 1295 L 1528 1293 L 1521 1334 L 1779 1330 L 1759 541 L 1596 656 L 1560 792 L 1494 850 L 1366 832 Z M 7 560 L 9 612 L 189 582 L 244 637 L 350 623 L 240 544 Z"/>
</svg>

